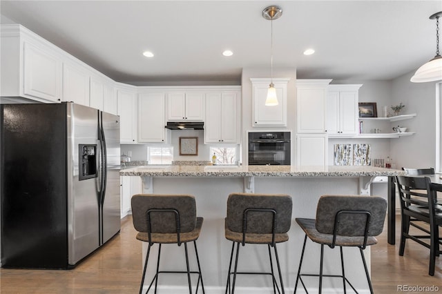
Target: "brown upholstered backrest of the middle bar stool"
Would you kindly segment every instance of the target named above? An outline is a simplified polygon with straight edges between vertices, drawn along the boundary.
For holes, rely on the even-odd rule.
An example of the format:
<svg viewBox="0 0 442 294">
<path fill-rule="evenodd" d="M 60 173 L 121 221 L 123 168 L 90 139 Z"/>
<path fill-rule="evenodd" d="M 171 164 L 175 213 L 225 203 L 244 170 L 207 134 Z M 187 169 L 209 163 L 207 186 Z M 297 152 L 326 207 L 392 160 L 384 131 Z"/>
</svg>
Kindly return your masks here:
<svg viewBox="0 0 442 294">
<path fill-rule="evenodd" d="M 244 210 L 247 213 L 247 233 L 271 234 L 273 213 L 258 212 L 253 209 L 276 211 L 276 228 L 274 233 L 287 233 L 291 225 L 292 201 L 289 195 L 232 193 L 227 199 L 227 228 L 242 233 Z"/>
</svg>

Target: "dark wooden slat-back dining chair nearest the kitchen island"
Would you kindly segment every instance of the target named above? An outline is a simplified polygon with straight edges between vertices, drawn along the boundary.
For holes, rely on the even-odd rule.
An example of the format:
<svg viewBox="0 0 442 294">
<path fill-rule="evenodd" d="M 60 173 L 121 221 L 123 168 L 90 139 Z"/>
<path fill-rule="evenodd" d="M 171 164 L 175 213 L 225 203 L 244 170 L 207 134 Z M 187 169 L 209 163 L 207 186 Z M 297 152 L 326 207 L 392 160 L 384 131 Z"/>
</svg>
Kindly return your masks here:
<svg viewBox="0 0 442 294">
<path fill-rule="evenodd" d="M 430 188 L 429 177 L 396 177 L 399 199 L 401 200 L 401 245 L 399 255 L 403 256 L 405 241 L 412 239 L 430 248 L 429 275 L 434 275 L 436 256 L 441 253 L 442 240 L 439 237 L 439 226 L 442 226 L 442 207 L 436 203 L 436 192 Z M 410 226 L 419 233 L 410 233 Z M 423 239 L 430 239 L 430 244 Z"/>
</svg>

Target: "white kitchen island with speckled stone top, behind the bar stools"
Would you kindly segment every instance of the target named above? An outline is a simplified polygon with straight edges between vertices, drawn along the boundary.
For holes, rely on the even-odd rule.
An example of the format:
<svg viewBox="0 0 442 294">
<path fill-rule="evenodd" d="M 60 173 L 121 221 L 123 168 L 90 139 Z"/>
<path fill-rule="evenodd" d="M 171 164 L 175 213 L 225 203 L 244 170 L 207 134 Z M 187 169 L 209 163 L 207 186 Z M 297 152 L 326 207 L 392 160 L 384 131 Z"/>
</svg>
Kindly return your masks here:
<svg viewBox="0 0 442 294">
<path fill-rule="evenodd" d="M 231 250 L 231 242 L 224 238 L 224 217 L 230 193 L 285 193 L 293 198 L 293 219 L 314 218 L 320 195 L 370 195 L 372 182 L 387 181 L 388 177 L 405 173 L 401 170 L 372 166 L 142 166 L 121 170 L 120 175 L 142 177 L 144 193 L 195 195 L 197 214 L 204 217 L 198 248 L 206 292 L 224 293 Z M 296 224 L 292 224 L 289 237 L 289 242 L 278 246 L 278 252 L 285 288 L 292 292 L 304 234 Z M 251 248 L 242 251 L 238 271 L 267 269 L 267 246 L 248 246 Z M 144 244 L 143 254 L 146 253 L 146 247 Z M 167 256 L 161 262 L 164 270 L 180 266 L 180 260 L 184 268 L 184 257 L 180 251 L 167 246 L 164 246 L 163 250 L 167 250 L 167 253 L 162 255 Z M 344 251 L 347 277 L 359 293 L 369 293 L 358 249 L 344 248 Z M 307 262 L 303 265 L 304 271 L 318 272 L 318 253 L 318 244 L 309 244 L 305 253 Z M 369 248 L 365 250 L 365 254 L 369 261 Z M 148 273 L 154 271 L 154 264 L 155 262 L 149 264 Z M 338 251 L 326 248 L 325 274 L 333 274 L 336 271 L 340 274 L 340 266 L 336 266 L 338 264 Z M 164 289 L 162 293 L 186 291 L 186 277 L 168 275 L 160 277 L 159 283 Z M 267 277 L 241 275 L 237 286 L 237 293 L 273 291 L 271 279 Z M 317 278 L 306 279 L 306 286 L 315 293 Z M 325 278 L 323 281 L 323 289 L 327 293 L 339 293 L 342 291 L 341 287 L 340 279 Z"/>
</svg>

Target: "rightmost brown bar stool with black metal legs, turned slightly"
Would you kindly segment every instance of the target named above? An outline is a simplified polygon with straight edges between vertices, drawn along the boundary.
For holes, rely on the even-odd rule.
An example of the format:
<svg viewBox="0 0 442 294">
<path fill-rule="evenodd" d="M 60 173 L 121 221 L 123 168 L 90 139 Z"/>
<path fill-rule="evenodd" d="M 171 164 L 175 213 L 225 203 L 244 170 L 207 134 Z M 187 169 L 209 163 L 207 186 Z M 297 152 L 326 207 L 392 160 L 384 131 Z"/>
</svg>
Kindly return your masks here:
<svg viewBox="0 0 442 294">
<path fill-rule="evenodd" d="M 294 293 L 296 293 L 299 281 L 305 292 L 308 293 L 304 281 L 302 281 L 302 276 L 319 277 L 318 293 L 322 292 L 323 277 L 340 277 L 343 279 L 344 293 L 347 293 L 346 282 L 358 293 L 345 277 L 343 246 L 357 246 L 359 248 L 370 293 L 373 293 L 363 250 L 366 246 L 378 242 L 374 236 L 382 233 L 386 210 L 387 200 L 382 197 L 323 195 L 316 207 L 316 219 L 296 218 L 296 222 L 305 232 L 305 238 Z M 307 237 L 311 241 L 320 244 L 319 275 L 301 273 Z M 342 275 L 323 275 L 324 245 L 330 248 L 339 246 Z"/>
</svg>

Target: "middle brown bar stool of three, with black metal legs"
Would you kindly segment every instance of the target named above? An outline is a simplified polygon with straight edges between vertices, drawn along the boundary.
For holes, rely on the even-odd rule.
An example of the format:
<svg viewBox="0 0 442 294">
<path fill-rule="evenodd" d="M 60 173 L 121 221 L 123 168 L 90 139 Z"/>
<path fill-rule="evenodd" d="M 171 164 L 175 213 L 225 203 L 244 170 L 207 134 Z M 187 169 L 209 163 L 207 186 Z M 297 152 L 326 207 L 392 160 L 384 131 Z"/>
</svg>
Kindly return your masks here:
<svg viewBox="0 0 442 294">
<path fill-rule="evenodd" d="M 233 244 L 229 272 L 227 273 L 226 293 L 234 293 L 236 275 L 238 274 L 271 275 L 273 292 L 276 293 L 276 289 L 278 289 L 278 293 L 280 293 L 281 289 L 282 293 L 285 293 L 276 244 L 286 242 L 289 239 L 287 231 L 289 231 L 291 225 L 291 206 L 292 201 L 289 195 L 252 193 L 232 193 L 229 195 L 224 233 L 226 239 L 231 240 Z M 235 244 L 236 259 L 234 270 L 231 272 Z M 238 272 L 240 244 L 242 246 L 245 244 L 267 244 L 271 271 L 265 273 Z M 280 288 L 273 273 L 271 247 L 273 247 L 278 266 Z M 231 275 L 233 275 L 233 282 L 231 282 Z"/>
</svg>

